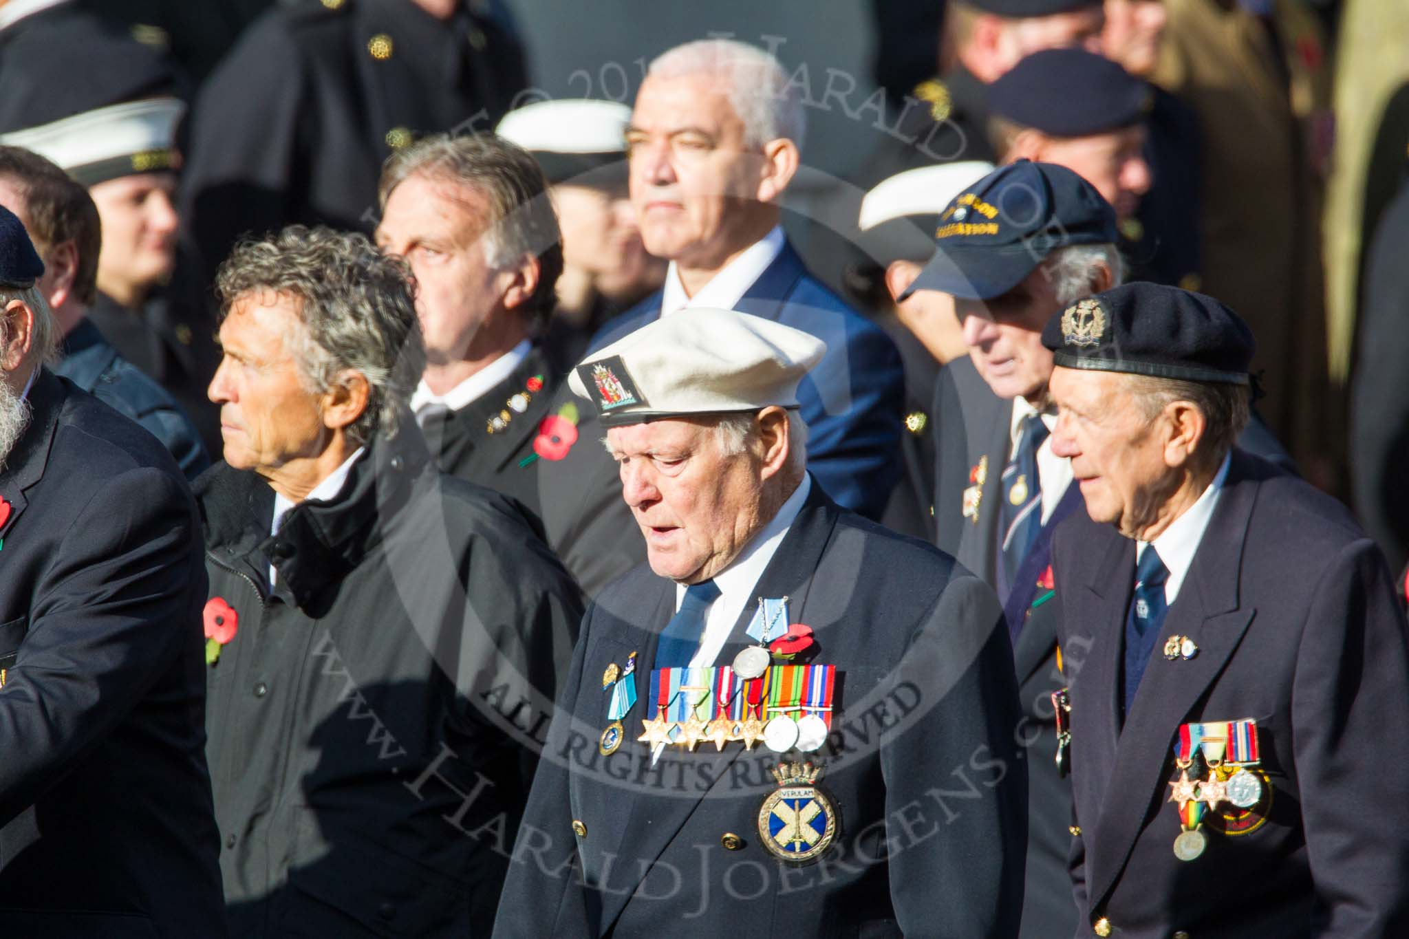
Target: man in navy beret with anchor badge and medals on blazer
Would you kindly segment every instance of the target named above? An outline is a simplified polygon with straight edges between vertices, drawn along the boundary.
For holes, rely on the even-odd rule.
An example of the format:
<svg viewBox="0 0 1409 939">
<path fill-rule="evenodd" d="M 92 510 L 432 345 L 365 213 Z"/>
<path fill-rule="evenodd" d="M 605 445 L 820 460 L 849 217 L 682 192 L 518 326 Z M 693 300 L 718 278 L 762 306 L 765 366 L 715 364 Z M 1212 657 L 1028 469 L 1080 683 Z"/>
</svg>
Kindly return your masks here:
<svg viewBox="0 0 1409 939">
<path fill-rule="evenodd" d="M 1339 503 L 1234 446 L 1247 325 L 1136 283 L 1043 341 L 1086 504 L 1053 541 L 1076 935 L 1406 935 L 1403 614 Z"/>
</svg>

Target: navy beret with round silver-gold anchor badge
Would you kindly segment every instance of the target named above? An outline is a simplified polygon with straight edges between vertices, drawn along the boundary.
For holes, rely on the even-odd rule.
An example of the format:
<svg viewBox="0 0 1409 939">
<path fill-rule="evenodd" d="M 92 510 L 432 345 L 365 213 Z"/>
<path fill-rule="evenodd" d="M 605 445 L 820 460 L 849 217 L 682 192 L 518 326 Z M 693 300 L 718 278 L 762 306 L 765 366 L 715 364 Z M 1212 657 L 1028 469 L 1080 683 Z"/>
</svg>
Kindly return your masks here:
<svg viewBox="0 0 1409 939">
<path fill-rule="evenodd" d="M 1134 282 L 1078 300 L 1043 328 L 1067 369 L 1248 384 L 1257 344 L 1241 317 L 1202 293 Z"/>
</svg>

